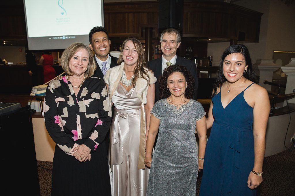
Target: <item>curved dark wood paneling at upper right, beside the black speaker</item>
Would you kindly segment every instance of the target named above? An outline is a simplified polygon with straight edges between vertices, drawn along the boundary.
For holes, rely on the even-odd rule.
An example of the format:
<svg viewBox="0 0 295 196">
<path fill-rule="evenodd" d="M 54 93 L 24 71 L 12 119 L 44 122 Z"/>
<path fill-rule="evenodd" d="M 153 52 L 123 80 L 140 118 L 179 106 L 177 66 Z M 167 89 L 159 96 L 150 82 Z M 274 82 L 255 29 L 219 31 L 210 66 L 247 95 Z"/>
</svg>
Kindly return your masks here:
<svg viewBox="0 0 295 196">
<path fill-rule="evenodd" d="M 216 1 L 185 1 L 183 11 L 184 37 L 238 39 L 242 31 L 246 41 L 258 42 L 262 13 Z"/>
</svg>

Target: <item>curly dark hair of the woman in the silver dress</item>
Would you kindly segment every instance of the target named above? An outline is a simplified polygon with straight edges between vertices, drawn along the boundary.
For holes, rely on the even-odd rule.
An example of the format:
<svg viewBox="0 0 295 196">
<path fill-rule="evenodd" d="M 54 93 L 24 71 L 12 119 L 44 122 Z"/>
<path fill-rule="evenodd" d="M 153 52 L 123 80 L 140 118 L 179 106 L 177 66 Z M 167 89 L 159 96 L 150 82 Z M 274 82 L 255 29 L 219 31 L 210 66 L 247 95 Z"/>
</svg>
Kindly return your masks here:
<svg viewBox="0 0 295 196">
<path fill-rule="evenodd" d="M 185 77 L 187 87 L 184 92 L 184 97 L 191 99 L 194 94 L 194 77 L 186 70 L 186 67 L 182 65 L 172 65 L 164 69 L 164 73 L 159 81 L 160 99 L 167 98 L 171 95 L 169 89 L 167 89 L 167 80 L 174 72 L 180 72 Z"/>
</svg>

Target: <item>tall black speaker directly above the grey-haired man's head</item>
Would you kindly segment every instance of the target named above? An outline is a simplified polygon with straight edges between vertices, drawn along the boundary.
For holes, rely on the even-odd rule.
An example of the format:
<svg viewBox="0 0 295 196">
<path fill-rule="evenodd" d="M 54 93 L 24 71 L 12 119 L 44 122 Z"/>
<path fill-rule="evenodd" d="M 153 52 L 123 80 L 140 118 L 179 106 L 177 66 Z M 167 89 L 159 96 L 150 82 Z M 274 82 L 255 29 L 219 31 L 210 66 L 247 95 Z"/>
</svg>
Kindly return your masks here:
<svg viewBox="0 0 295 196">
<path fill-rule="evenodd" d="M 183 0 L 159 0 L 159 35 L 164 29 L 178 29 L 182 36 Z"/>
</svg>

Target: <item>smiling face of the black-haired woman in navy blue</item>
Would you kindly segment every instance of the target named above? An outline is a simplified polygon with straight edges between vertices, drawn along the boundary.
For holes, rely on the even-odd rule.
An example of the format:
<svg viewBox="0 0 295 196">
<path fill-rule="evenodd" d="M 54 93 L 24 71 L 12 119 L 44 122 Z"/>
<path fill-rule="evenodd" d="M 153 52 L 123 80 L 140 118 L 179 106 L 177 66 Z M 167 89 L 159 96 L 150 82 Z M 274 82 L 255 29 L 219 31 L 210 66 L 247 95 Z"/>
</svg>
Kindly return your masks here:
<svg viewBox="0 0 295 196">
<path fill-rule="evenodd" d="M 247 68 L 248 65 L 241 53 L 232 53 L 224 58 L 223 75 L 230 83 L 243 79 L 243 73 Z"/>
</svg>

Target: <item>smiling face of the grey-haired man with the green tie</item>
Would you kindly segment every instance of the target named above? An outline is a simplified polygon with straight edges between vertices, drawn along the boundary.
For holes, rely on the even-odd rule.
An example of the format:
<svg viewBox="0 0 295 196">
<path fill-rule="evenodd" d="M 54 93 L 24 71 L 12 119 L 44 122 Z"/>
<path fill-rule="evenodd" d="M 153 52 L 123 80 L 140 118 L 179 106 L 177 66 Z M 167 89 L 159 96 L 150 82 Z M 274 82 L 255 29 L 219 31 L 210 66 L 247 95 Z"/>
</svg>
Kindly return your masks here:
<svg viewBox="0 0 295 196">
<path fill-rule="evenodd" d="M 177 43 L 176 40 L 175 33 L 164 33 L 162 37 L 161 49 L 163 57 L 168 61 L 176 55 L 177 48 L 180 46 L 180 43 Z"/>
</svg>

